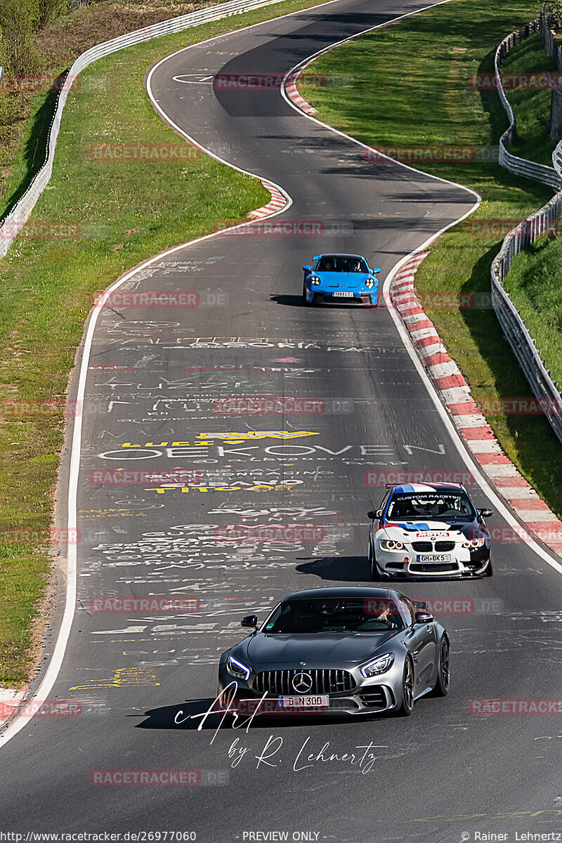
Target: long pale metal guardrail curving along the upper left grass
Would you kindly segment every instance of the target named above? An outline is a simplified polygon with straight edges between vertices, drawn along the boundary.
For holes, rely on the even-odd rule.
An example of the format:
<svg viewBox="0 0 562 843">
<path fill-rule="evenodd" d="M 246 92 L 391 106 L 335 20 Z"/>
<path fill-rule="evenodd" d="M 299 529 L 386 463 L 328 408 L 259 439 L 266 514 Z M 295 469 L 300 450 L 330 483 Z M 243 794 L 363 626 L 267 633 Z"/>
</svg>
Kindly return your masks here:
<svg viewBox="0 0 562 843">
<path fill-rule="evenodd" d="M 281 0 L 230 0 L 229 3 L 219 3 L 217 6 L 183 14 L 178 18 L 163 20 L 159 24 L 147 26 L 142 30 L 135 30 L 134 32 L 126 33 L 126 35 L 120 35 L 118 38 L 110 41 L 103 41 L 101 44 L 90 47 L 81 56 L 78 56 L 72 67 L 69 68 L 65 82 L 62 83 L 57 97 L 56 110 L 49 128 L 45 162 L 35 174 L 24 195 L 10 209 L 8 214 L 3 218 L 2 224 L 0 224 L 0 257 L 3 257 L 8 252 L 13 239 L 17 236 L 20 228 L 22 228 L 35 207 L 41 193 L 51 180 L 56 139 L 61 127 L 62 110 L 67 102 L 67 95 L 71 89 L 72 81 L 78 76 L 78 73 L 97 61 L 97 59 L 110 56 L 111 53 L 124 50 L 133 44 L 141 44 L 143 41 L 159 38 L 162 35 L 172 35 L 174 32 L 181 32 L 182 30 L 190 29 L 192 26 L 207 24 L 213 20 L 227 18 L 233 14 L 241 14 L 262 6 L 270 6 L 273 3 L 281 3 Z"/>
</svg>

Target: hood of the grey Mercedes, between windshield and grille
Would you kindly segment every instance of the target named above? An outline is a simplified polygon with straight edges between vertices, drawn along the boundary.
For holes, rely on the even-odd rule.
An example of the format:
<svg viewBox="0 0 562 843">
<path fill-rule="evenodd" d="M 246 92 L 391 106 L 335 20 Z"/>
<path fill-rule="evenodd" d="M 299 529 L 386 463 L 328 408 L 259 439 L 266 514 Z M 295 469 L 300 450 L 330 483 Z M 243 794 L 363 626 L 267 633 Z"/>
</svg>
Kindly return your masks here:
<svg viewBox="0 0 562 843">
<path fill-rule="evenodd" d="M 254 664 L 294 663 L 300 667 L 321 664 L 345 667 L 365 662 L 395 631 L 369 633 L 312 633 L 308 635 L 267 635 L 259 632 L 248 642 L 248 656 Z"/>
</svg>

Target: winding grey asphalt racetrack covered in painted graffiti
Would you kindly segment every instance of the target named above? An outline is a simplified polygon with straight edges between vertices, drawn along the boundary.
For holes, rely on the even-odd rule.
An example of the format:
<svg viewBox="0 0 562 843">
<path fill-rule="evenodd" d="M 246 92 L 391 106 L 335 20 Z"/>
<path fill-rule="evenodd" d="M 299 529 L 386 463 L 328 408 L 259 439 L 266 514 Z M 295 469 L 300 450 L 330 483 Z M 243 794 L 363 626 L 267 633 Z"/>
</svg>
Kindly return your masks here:
<svg viewBox="0 0 562 843">
<path fill-rule="evenodd" d="M 442 617 L 453 658 L 446 700 L 420 700 L 405 721 L 311 717 L 217 732 L 217 722 L 174 724 L 178 711 L 183 719 L 211 705 L 218 655 L 239 639 L 242 615 L 263 616 L 295 588 L 367 583 L 365 513 L 390 472 L 466 471 L 388 310 L 305 308 L 300 267 L 329 248 L 363 252 L 388 273 L 473 198 L 369 162 L 278 90 L 212 84 L 219 71 L 282 78 L 323 46 L 420 5 L 342 0 L 222 35 L 153 69 L 153 96 L 171 123 L 292 197 L 276 221 L 292 221 L 293 236 L 202 239 L 121 287 L 197 291 L 197 308 L 114 302 L 99 313 L 79 452 L 78 604 L 51 691 L 81 713 L 34 717 L 4 746 L 6 829 L 193 830 L 197 840 L 233 843 L 275 839 L 250 832 L 456 841 L 475 829 L 556 830 L 556 718 L 468 713 L 474 698 L 559 696 L 562 580 L 523 543 L 495 543 L 492 578 L 404 589 L 473 601 Z M 317 399 L 316 411 L 225 411 L 232 397 L 264 396 Z M 119 470 L 133 472 L 130 484 L 107 485 Z M 474 495 L 487 503 L 478 486 Z M 248 536 L 288 527 L 302 540 L 232 543 L 231 525 Z M 507 526 L 500 517 L 494 525 Z M 147 594 L 201 605 L 109 615 L 92 602 Z M 365 753 L 351 764 L 350 754 Z M 93 771 L 148 769 L 201 771 L 201 786 L 91 783 Z"/>
</svg>

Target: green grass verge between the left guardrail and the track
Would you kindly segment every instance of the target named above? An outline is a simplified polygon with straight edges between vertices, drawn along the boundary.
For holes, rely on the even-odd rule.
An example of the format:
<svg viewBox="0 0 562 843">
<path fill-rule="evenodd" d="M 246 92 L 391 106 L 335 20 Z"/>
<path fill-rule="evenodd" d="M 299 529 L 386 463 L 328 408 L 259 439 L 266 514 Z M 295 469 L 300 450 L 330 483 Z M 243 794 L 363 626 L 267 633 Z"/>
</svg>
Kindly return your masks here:
<svg viewBox="0 0 562 843">
<path fill-rule="evenodd" d="M 184 145 L 150 105 L 147 67 L 181 46 L 313 5 L 290 0 L 130 47 L 89 67 L 83 89 L 69 96 L 51 183 L 29 223 L 78 224 L 81 235 L 20 236 L 0 261 L 0 683 L 28 678 L 31 621 L 49 571 L 46 540 L 13 542 L 9 533 L 46 536 L 50 529 L 60 407 L 94 293 L 142 260 L 211 233 L 217 220 L 240 220 L 270 198 L 259 181 L 205 155 L 108 162 L 93 160 L 90 147 Z M 59 409 L 41 418 L 6 412 L 8 401 L 56 401 Z"/>
</svg>

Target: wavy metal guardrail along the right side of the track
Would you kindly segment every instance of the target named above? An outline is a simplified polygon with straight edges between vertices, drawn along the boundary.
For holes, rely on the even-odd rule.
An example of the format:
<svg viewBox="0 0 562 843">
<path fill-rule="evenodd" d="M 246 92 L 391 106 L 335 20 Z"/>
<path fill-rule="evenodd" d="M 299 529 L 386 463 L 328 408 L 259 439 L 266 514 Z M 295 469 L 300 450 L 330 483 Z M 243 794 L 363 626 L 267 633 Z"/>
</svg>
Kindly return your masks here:
<svg viewBox="0 0 562 843">
<path fill-rule="evenodd" d="M 562 442 L 562 398 L 556 381 L 550 377 L 550 370 L 545 367 L 533 337 L 527 330 L 521 314 L 511 301 L 504 287 L 504 280 L 511 269 L 514 257 L 522 249 L 525 249 L 527 245 L 534 243 L 539 235 L 549 234 L 553 223 L 562 216 L 562 173 L 560 173 L 558 167 L 552 169 L 543 164 L 527 161 L 525 158 L 517 158 L 516 155 L 512 155 L 507 150 L 507 147 L 511 146 L 511 143 L 517 137 L 517 121 L 501 85 L 500 62 L 506 57 L 512 46 L 520 43 L 528 35 L 533 35 L 541 25 L 544 25 L 543 16 L 541 19 L 531 21 L 522 30 L 512 32 L 511 35 L 508 35 L 501 41 L 495 51 L 495 84 L 500 94 L 501 103 L 510 121 L 506 132 L 500 137 L 499 160 L 500 164 L 512 173 L 541 181 L 543 184 L 549 185 L 559 192 L 544 207 L 540 208 L 539 211 L 527 217 L 516 228 L 513 228 L 506 239 L 504 239 L 500 252 L 495 257 L 491 266 L 492 304 L 500 322 L 501 330 L 503 330 L 507 341 L 517 357 L 517 362 L 519 362 L 533 390 L 533 395 L 541 401 L 541 406 L 549 419 L 550 425 L 560 442 Z M 556 149 L 558 150 L 561 147 L 562 143 Z M 556 160 L 560 160 L 562 163 L 562 155 L 560 153 Z"/>
</svg>

